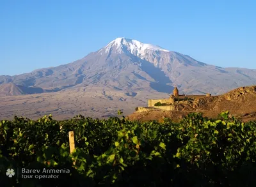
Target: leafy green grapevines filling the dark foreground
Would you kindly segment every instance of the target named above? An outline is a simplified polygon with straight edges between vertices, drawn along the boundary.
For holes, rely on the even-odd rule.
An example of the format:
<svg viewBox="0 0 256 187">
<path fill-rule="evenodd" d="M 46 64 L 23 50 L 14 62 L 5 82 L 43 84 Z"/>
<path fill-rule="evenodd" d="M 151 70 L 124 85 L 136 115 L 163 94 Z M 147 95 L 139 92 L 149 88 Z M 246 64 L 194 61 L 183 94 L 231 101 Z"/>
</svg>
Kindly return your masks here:
<svg viewBox="0 0 256 187">
<path fill-rule="evenodd" d="M 228 112 L 218 119 L 193 113 L 179 123 L 15 117 L 0 121 L 0 186 L 255 186 L 255 134 L 256 121 L 242 123 Z M 6 176 L 8 168 L 15 176 Z M 24 179 L 21 168 L 70 172 Z"/>
</svg>

